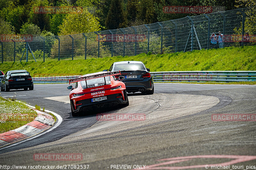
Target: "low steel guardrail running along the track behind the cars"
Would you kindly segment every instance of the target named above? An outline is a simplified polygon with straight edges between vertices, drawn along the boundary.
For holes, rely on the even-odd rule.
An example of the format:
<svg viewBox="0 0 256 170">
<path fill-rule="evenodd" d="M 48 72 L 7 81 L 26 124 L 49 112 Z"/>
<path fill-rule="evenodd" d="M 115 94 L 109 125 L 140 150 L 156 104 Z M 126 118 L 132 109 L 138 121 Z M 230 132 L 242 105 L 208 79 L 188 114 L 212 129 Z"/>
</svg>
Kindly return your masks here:
<svg viewBox="0 0 256 170">
<path fill-rule="evenodd" d="M 256 81 L 256 71 L 161 71 L 150 72 L 154 82 L 175 81 Z M 34 84 L 68 83 L 79 76 L 34 77 Z"/>
</svg>

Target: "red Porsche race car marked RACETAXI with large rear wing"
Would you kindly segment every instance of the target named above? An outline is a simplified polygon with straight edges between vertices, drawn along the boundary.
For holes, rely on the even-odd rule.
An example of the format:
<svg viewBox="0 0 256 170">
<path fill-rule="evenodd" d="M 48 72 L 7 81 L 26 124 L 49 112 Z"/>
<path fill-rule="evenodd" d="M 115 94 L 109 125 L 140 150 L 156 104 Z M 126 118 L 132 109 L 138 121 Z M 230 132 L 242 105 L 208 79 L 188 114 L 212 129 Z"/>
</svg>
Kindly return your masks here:
<svg viewBox="0 0 256 170">
<path fill-rule="evenodd" d="M 124 79 L 120 76 L 120 71 L 102 71 L 86 74 L 79 78 L 69 79 L 70 83 L 76 83 L 75 87 L 69 85 L 69 99 L 72 116 L 77 116 L 81 112 L 90 112 L 97 108 L 128 106 L 128 96 Z"/>
</svg>

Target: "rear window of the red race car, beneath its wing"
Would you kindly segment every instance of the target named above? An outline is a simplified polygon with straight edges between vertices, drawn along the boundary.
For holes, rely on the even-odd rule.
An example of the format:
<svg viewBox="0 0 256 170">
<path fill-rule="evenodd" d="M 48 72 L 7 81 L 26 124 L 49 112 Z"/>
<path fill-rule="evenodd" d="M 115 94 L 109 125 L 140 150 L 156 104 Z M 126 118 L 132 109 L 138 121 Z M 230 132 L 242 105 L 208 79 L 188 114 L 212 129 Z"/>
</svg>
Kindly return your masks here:
<svg viewBox="0 0 256 170">
<path fill-rule="evenodd" d="M 111 81 L 110 76 L 100 77 L 100 78 L 93 78 L 93 79 L 90 79 L 90 80 L 81 81 L 81 86 L 82 86 L 83 89 L 86 89 L 86 88 L 98 87 L 98 86 L 101 86 L 101 85 L 110 85 L 110 81 Z M 87 87 L 86 87 L 86 83 L 87 83 Z"/>
</svg>

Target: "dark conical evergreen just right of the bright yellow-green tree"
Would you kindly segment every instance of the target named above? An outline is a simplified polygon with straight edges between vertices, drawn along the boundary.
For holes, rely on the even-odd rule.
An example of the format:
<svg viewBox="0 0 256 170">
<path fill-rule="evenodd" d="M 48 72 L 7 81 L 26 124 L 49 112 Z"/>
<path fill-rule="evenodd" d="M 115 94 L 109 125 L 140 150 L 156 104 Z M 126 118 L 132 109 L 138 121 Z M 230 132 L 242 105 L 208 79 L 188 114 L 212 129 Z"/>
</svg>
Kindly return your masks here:
<svg viewBox="0 0 256 170">
<path fill-rule="evenodd" d="M 111 0 L 108 16 L 105 22 L 107 29 L 117 29 L 125 22 L 123 5 L 120 0 Z"/>
</svg>

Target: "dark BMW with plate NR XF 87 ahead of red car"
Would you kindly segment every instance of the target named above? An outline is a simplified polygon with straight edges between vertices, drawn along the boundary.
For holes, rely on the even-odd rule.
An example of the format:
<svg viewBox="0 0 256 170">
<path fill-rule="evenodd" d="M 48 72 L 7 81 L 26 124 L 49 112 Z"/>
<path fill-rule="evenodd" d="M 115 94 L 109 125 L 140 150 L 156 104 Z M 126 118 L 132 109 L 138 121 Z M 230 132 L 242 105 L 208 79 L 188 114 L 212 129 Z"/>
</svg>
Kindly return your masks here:
<svg viewBox="0 0 256 170">
<path fill-rule="evenodd" d="M 141 92 L 144 94 L 154 93 L 153 78 L 149 69 L 140 61 L 123 61 L 113 63 L 109 71 L 120 70 L 121 76 L 124 76 L 124 82 L 127 92 Z M 107 70 L 104 70 L 107 71 Z M 115 76 L 117 79 L 119 75 Z"/>
</svg>

